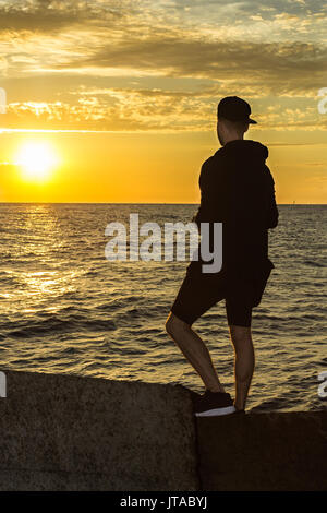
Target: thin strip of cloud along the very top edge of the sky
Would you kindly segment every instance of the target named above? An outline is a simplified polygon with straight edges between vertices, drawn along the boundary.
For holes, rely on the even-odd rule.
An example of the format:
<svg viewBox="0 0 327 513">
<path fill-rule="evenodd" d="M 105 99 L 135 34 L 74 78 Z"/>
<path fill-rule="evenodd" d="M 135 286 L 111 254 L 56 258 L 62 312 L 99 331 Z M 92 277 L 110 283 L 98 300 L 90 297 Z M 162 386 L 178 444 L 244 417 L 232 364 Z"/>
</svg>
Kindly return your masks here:
<svg viewBox="0 0 327 513">
<path fill-rule="evenodd" d="M 326 38 L 327 8 L 320 0 L 15 0 L 0 5 L 0 32 L 47 34 L 76 27 L 123 28 L 137 31 L 141 37 L 172 27 L 213 36 L 233 35 L 247 40 L 289 40 L 310 35 L 311 40 Z M 117 26 L 119 20 L 122 26 Z M 114 32 L 114 31 L 112 31 Z M 325 39 L 326 40 L 326 39 Z"/>
</svg>

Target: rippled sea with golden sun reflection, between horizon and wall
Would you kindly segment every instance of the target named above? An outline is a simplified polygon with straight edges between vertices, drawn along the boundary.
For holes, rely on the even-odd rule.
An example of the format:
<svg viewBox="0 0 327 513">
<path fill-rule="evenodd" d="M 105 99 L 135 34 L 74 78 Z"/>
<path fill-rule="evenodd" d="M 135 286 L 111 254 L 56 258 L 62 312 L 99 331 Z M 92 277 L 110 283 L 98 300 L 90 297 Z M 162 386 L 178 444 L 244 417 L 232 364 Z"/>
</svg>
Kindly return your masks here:
<svg viewBox="0 0 327 513">
<path fill-rule="evenodd" d="M 272 270 L 253 310 L 256 368 L 249 411 L 327 406 L 327 205 L 278 205 Z M 189 223 L 195 204 L 1 203 L 0 370 L 181 384 L 199 375 L 165 330 L 187 261 L 110 261 L 106 227 Z M 111 225 L 110 225 L 111 226 Z M 108 232 L 107 232 L 108 234 Z M 233 395 L 225 301 L 193 325 Z"/>
</svg>

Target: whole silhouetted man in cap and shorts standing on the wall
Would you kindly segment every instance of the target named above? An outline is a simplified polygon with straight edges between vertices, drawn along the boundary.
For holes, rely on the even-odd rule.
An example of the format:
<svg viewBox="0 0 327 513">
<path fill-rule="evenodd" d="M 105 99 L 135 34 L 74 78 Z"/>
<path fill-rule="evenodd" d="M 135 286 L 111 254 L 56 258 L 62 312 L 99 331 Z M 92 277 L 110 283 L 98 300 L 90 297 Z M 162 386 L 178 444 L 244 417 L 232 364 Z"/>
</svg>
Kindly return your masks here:
<svg viewBox="0 0 327 513">
<path fill-rule="evenodd" d="M 256 123 L 250 115 L 250 105 L 237 96 L 218 105 L 222 147 L 202 166 L 201 206 L 194 220 L 198 227 L 209 223 L 210 243 L 214 223 L 222 223 L 222 266 L 204 273 L 202 258 L 193 260 L 166 322 L 167 332 L 205 384 L 203 395 L 193 394 L 198 417 L 244 411 L 254 370 L 252 308 L 259 305 L 275 267 L 268 258 L 268 228 L 278 224 L 275 182 L 266 166 L 267 147 L 243 139 L 249 124 Z M 191 327 L 221 299 L 235 354 L 234 402 L 225 392 L 206 345 Z"/>
</svg>

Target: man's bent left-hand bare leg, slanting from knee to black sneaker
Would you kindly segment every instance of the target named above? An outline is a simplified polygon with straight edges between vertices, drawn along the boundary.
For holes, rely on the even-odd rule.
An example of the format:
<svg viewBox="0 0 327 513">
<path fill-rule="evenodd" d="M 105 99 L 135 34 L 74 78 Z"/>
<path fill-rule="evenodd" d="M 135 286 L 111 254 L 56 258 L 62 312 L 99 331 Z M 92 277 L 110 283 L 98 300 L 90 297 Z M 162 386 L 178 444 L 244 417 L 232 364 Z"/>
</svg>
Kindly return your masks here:
<svg viewBox="0 0 327 513">
<path fill-rule="evenodd" d="M 170 312 L 166 321 L 166 330 L 199 374 L 206 389 L 211 392 L 225 392 L 205 343 L 192 327 Z"/>
</svg>

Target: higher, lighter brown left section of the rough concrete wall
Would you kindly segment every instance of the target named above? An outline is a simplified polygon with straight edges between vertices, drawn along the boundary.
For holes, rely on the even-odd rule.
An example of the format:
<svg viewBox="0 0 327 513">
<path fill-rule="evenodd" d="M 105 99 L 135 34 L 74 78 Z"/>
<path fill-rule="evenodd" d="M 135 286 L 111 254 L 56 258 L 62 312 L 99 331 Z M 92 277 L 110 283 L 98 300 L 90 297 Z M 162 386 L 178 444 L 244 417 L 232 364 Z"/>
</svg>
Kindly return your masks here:
<svg viewBox="0 0 327 513">
<path fill-rule="evenodd" d="M 183 386 L 5 374 L 0 490 L 198 490 Z"/>
</svg>

